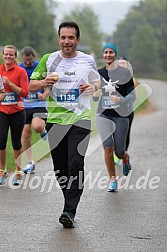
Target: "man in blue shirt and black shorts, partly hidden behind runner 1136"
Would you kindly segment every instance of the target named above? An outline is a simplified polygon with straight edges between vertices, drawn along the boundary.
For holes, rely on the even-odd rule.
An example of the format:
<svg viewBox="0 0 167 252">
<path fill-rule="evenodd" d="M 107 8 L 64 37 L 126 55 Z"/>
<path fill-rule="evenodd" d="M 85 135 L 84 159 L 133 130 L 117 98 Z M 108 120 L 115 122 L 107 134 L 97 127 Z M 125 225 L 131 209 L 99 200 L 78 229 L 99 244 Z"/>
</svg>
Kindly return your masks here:
<svg viewBox="0 0 167 252">
<path fill-rule="evenodd" d="M 36 53 L 32 47 L 24 47 L 21 53 L 23 62 L 19 64 L 27 72 L 28 79 L 34 69 L 38 65 L 38 61 L 35 61 Z M 47 131 L 45 129 L 45 121 L 47 117 L 46 102 L 45 99 L 48 96 L 48 89 L 40 89 L 38 92 L 29 92 L 28 97 L 23 99 L 26 123 L 22 132 L 22 145 L 23 151 L 26 151 L 27 165 L 23 168 L 24 173 L 32 173 L 35 170 L 35 163 L 32 155 L 32 130 L 41 135 L 43 140 L 47 139 Z"/>
</svg>

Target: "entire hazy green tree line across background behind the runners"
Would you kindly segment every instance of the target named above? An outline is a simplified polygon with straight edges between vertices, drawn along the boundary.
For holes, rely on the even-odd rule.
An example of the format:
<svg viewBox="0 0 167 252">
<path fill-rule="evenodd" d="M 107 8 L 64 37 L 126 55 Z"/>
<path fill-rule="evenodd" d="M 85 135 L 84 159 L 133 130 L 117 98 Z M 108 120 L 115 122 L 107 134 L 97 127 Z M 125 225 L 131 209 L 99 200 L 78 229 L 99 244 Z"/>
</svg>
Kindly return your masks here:
<svg viewBox="0 0 167 252">
<path fill-rule="evenodd" d="M 167 72 L 166 2 L 141 0 L 118 23 L 113 34 L 100 30 L 98 16 L 89 5 L 76 6 L 62 21 L 73 20 L 79 24 L 79 49 L 92 53 L 97 62 L 102 58 L 103 43 L 109 37 L 117 44 L 119 56 L 128 57 L 135 73 L 163 75 Z M 39 58 L 58 50 L 57 6 L 54 0 L 1 0 L 0 46 L 14 44 L 19 50 L 32 46 Z"/>
</svg>

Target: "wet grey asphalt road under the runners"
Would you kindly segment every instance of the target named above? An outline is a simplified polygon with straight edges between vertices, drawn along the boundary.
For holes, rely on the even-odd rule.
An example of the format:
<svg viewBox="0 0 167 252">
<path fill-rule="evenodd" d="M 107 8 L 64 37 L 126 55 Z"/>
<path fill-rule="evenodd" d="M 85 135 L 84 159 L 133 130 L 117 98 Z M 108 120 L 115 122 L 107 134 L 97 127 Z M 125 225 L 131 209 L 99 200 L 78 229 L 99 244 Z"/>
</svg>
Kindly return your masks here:
<svg viewBox="0 0 167 252">
<path fill-rule="evenodd" d="M 118 193 L 107 192 L 103 149 L 98 138 L 92 139 L 76 227 L 64 229 L 58 222 L 62 194 L 55 180 L 45 185 L 43 176 L 53 166 L 50 158 L 44 159 L 21 188 L 12 189 L 10 180 L 0 187 L 0 251 L 167 251 L 167 83 L 145 83 L 157 110 L 134 119 L 129 149 L 133 170 L 125 180 L 117 167 Z"/>
</svg>

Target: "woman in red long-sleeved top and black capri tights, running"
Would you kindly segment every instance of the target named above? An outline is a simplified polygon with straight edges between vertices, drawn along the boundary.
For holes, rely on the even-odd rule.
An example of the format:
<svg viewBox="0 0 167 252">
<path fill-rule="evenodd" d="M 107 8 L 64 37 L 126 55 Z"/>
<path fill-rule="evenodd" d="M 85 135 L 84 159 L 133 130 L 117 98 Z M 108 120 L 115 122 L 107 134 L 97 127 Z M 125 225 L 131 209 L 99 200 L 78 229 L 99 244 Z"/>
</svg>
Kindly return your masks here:
<svg viewBox="0 0 167 252">
<path fill-rule="evenodd" d="M 22 97 L 28 95 L 28 77 L 26 71 L 17 65 L 17 48 L 6 45 L 3 48 L 3 64 L 0 75 L 6 92 L 0 102 L 0 185 L 6 177 L 7 139 L 10 128 L 13 155 L 16 160 L 22 153 L 21 134 L 25 124 L 25 111 Z M 22 183 L 22 171 L 16 163 L 13 185 Z"/>
</svg>

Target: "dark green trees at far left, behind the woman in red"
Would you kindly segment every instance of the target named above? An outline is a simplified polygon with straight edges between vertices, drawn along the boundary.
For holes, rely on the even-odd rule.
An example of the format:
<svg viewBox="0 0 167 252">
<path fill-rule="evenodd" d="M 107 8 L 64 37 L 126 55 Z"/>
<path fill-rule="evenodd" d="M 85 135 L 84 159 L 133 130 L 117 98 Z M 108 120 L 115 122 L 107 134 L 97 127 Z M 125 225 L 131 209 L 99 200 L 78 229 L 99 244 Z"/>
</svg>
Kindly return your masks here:
<svg viewBox="0 0 167 252">
<path fill-rule="evenodd" d="M 14 44 L 18 49 L 32 46 L 40 54 L 55 50 L 57 32 L 55 15 L 48 0 L 0 1 L 1 45 Z"/>
</svg>

